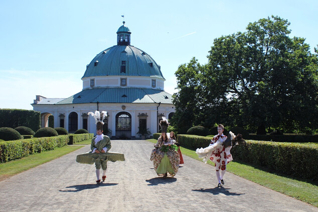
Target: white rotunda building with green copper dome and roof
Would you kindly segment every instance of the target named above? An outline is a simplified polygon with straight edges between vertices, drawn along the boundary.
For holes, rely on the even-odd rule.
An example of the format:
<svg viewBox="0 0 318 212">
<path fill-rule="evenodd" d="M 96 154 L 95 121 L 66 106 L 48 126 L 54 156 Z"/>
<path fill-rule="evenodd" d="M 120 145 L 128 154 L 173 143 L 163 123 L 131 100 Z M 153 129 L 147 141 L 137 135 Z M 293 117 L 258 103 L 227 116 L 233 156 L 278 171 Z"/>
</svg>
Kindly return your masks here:
<svg viewBox="0 0 318 212">
<path fill-rule="evenodd" d="M 175 112 L 160 66 L 131 45 L 125 22 L 117 31 L 117 45 L 97 54 L 81 79 L 83 89 L 68 98 L 36 96 L 32 106 L 41 112 L 42 127 L 51 123 L 69 133 L 77 129 L 95 133 L 95 120 L 87 113 L 107 111 L 104 132 L 111 132 L 113 139 L 135 139 L 141 137 L 139 131 L 158 132 L 162 117 L 171 118 Z"/>
</svg>

